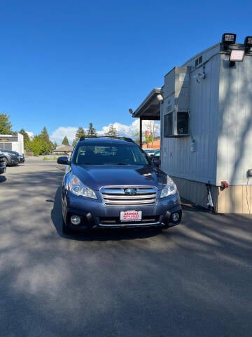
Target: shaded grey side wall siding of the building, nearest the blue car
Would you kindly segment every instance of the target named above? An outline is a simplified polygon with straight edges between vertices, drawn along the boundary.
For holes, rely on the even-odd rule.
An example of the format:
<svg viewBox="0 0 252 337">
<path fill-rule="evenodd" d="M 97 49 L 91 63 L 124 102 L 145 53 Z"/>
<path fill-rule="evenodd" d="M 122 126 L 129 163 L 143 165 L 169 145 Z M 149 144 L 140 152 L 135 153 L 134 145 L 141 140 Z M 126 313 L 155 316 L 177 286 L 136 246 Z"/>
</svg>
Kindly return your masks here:
<svg viewBox="0 0 252 337">
<path fill-rule="evenodd" d="M 216 53 L 190 74 L 190 136 L 162 139 L 162 169 L 172 176 L 216 184 L 219 62 Z M 194 78 L 197 72 L 206 74 L 200 83 Z M 166 105 L 164 99 L 162 125 Z"/>
</svg>

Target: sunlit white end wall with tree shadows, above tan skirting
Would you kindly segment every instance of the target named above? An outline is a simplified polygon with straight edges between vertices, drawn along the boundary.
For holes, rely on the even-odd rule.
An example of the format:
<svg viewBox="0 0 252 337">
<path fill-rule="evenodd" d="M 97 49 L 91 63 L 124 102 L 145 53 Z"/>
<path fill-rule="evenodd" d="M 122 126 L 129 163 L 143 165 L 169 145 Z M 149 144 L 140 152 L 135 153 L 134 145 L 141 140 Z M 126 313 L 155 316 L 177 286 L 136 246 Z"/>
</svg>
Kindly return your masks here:
<svg viewBox="0 0 252 337">
<path fill-rule="evenodd" d="M 222 55 L 218 113 L 217 181 L 246 185 L 252 169 L 252 57 L 229 67 Z"/>
</svg>

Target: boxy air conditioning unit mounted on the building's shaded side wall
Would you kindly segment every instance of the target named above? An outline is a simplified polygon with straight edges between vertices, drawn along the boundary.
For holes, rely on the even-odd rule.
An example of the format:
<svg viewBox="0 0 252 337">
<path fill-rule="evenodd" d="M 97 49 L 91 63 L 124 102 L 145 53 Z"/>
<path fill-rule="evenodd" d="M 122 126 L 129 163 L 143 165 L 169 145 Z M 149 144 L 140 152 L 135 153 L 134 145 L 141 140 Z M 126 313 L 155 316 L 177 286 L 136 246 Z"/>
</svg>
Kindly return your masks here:
<svg viewBox="0 0 252 337">
<path fill-rule="evenodd" d="M 173 111 L 165 114 L 164 137 L 186 137 L 190 135 L 189 112 Z"/>
</svg>

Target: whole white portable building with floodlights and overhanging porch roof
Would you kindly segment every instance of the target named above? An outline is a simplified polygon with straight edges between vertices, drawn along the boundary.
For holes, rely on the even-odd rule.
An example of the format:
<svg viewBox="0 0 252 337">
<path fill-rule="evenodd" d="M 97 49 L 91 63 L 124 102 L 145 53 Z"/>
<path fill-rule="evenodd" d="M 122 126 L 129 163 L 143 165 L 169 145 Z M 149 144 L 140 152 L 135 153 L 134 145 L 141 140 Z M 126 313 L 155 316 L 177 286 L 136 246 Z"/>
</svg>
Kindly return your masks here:
<svg viewBox="0 0 252 337">
<path fill-rule="evenodd" d="M 161 169 L 181 197 L 218 213 L 252 211 L 252 37 L 235 37 L 174 67 L 133 113 L 160 117 Z"/>
</svg>

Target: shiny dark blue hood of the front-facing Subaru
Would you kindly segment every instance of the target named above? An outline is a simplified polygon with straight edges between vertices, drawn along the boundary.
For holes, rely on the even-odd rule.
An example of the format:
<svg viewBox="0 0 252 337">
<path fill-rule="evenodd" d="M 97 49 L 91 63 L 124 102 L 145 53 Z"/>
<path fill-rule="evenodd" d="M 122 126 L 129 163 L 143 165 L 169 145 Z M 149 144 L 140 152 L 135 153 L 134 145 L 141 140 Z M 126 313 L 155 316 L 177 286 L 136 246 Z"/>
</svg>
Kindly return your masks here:
<svg viewBox="0 0 252 337">
<path fill-rule="evenodd" d="M 151 165 L 72 165 L 72 173 L 92 190 L 104 186 L 155 186 L 167 183 L 167 174 Z"/>
</svg>

